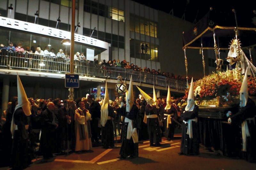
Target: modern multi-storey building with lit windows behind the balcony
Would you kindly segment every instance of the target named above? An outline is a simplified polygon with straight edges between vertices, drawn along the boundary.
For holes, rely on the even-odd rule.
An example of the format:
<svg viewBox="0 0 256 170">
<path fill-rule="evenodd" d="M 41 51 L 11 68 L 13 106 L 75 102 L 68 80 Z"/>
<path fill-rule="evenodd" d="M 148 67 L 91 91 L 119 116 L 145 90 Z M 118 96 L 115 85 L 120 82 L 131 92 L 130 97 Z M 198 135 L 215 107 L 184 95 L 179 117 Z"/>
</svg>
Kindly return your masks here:
<svg viewBox="0 0 256 170">
<path fill-rule="evenodd" d="M 29 49 L 40 46 L 42 50 L 49 48 L 49 51 L 53 48 L 55 54 L 59 49 L 62 49 L 68 55 L 69 47 L 63 46 L 60 41 L 70 37 L 68 32 L 71 24 L 71 4 L 71 0 L 1 0 L 0 43 L 4 43 L 5 46 L 8 46 L 10 42 L 13 42 L 14 45 L 21 43 L 23 48 L 28 47 Z M 76 0 L 75 25 L 75 52 L 84 53 L 87 60 L 126 60 L 141 68 L 161 69 L 164 72 L 173 72 L 176 75 L 185 76 L 182 32 L 193 26 L 190 22 L 131 0 Z M 195 65 L 201 63 L 199 52 L 191 50 L 189 55 L 193 56 L 188 57 L 188 62 L 192 65 L 189 66 L 189 76 L 194 75 L 194 77 L 200 78 L 203 75 L 202 68 L 195 67 Z M 65 65 L 62 62 L 53 66 L 51 62 L 60 62 L 55 61 L 55 59 L 45 60 L 42 56 L 34 58 L 38 63 L 33 62 L 34 59 L 31 62 L 27 54 L 24 58 L 20 60 L 5 59 L 5 62 L 12 62 L 13 64 L 14 61 L 15 64 L 19 63 L 19 66 L 14 65 L 14 70 L 18 68 L 20 70 L 19 74 L 33 77 L 33 83 L 30 82 L 28 85 L 30 86 L 29 96 L 39 97 L 44 95 L 42 97 L 45 98 L 57 97 L 58 94 L 67 96 L 67 89 L 63 87 L 64 80 L 61 80 L 63 75 L 59 73 L 68 71 L 68 63 Z M 36 68 L 35 63 L 37 64 Z M 45 65 L 44 68 L 42 68 L 42 64 Z M 82 77 L 81 80 L 85 80 L 85 83 L 81 83 L 84 88 L 79 89 L 77 95 L 84 95 L 85 89 L 88 92 L 88 89 L 93 89 L 93 87 L 100 88 L 104 81 L 113 83 L 114 89 L 116 80 L 106 80 L 106 75 L 99 76 L 96 67 L 93 66 L 94 69 L 90 70 L 90 64 L 92 62 L 87 65 L 76 64 L 77 73 L 84 76 L 91 72 L 90 75 L 92 75 L 89 79 L 88 77 Z M 12 84 L 8 81 L 15 82 L 15 77 L 10 75 L 16 74 L 16 71 L 10 70 L 8 65 L 1 70 L 1 84 L 3 83 L 3 86 L 10 85 L 10 88 L 14 88 L 15 83 Z M 30 67 L 33 67 L 34 70 Z M 21 68 L 26 69 L 22 70 Z M 78 72 L 78 68 L 80 68 L 80 72 Z M 8 71 L 6 71 L 7 69 Z M 52 69 L 59 73 L 47 72 Z M 44 74 L 42 74 L 42 71 Z M 108 71 L 108 73 L 113 72 L 115 71 Z M 94 78 L 94 74 L 97 74 L 100 78 L 97 78 L 97 76 L 94 76 L 96 77 Z M 5 79 L 8 79 L 8 76 L 9 80 L 7 81 Z M 60 81 L 56 79 L 56 76 L 60 78 Z M 123 77 L 128 79 L 129 75 Z M 52 81 L 53 78 L 55 80 Z M 135 80 L 135 82 L 138 82 L 138 85 L 142 85 L 142 83 L 147 87 L 156 85 L 156 88 L 162 90 L 165 90 L 171 84 L 172 91 L 184 92 L 184 87 L 186 87 L 184 82 L 176 81 L 175 83 L 174 80 L 173 82 L 171 80 L 167 81 L 166 78 L 161 79 L 152 76 L 151 83 L 149 80 L 143 82 L 140 75 L 137 78 L 138 80 Z M 29 78 L 25 79 L 28 80 Z M 50 85 L 51 83 L 49 83 L 42 86 L 42 83 L 46 80 L 55 84 Z M 56 85 L 61 88 L 56 87 Z M 47 95 L 43 91 L 47 91 Z M 37 92 L 41 93 L 36 94 Z M 2 103 L 6 102 L 3 93 L 4 89 L 2 91 Z M 5 96 L 13 95 L 15 95 L 15 92 L 12 91 L 9 95 L 5 94 Z"/>
</svg>

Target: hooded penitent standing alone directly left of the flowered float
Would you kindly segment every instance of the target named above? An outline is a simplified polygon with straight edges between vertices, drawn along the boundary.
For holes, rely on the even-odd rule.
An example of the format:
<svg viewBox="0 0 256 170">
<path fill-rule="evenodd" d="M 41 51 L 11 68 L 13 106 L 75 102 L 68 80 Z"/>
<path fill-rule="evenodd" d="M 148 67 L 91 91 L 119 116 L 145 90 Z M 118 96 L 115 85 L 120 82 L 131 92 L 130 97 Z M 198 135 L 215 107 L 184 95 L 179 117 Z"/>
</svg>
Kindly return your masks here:
<svg viewBox="0 0 256 170">
<path fill-rule="evenodd" d="M 180 116 L 182 122 L 182 137 L 180 146 L 180 155 L 198 155 L 199 154 L 199 141 L 198 141 L 198 128 L 197 116 L 198 106 L 195 105 L 194 100 L 194 85 L 193 78 L 188 92 L 187 105 L 183 107 Z"/>
</svg>

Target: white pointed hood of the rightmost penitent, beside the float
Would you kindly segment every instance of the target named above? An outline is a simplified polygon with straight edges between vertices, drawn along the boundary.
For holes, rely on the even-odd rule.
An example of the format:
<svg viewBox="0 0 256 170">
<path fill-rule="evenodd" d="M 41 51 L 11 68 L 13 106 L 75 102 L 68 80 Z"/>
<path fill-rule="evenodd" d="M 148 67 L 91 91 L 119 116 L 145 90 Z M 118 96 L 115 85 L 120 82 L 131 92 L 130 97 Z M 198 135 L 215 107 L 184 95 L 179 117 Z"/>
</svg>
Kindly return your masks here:
<svg viewBox="0 0 256 170">
<path fill-rule="evenodd" d="M 244 73 L 244 79 L 243 79 L 243 83 L 241 85 L 241 89 L 239 91 L 240 93 L 240 107 L 244 107 L 247 103 L 248 100 L 248 83 L 247 83 L 247 71 L 248 68 L 246 69 L 245 73 Z"/>
</svg>

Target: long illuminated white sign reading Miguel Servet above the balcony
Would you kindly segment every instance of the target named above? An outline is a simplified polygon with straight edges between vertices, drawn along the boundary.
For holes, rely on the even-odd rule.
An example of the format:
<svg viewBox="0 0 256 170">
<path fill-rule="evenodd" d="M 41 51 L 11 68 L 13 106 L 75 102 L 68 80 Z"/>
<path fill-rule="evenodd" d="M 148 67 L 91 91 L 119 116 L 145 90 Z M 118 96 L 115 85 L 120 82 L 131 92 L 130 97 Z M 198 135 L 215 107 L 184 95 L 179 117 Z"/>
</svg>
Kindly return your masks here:
<svg viewBox="0 0 256 170">
<path fill-rule="evenodd" d="M 20 21 L 12 18 L 6 18 L 6 17 L 0 17 L 0 26 L 12 28 L 12 29 L 18 29 L 21 31 L 27 31 L 30 33 L 43 34 L 43 35 L 52 36 L 60 39 L 70 39 L 71 37 L 71 33 L 68 31 L 63 31 L 63 30 L 51 28 L 48 26 L 41 26 L 38 24 L 33 24 L 33 23 Z M 87 36 L 76 34 L 76 33 L 75 33 L 75 41 L 108 49 L 108 42 L 100 41 L 98 39 L 87 37 Z"/>
</svg>

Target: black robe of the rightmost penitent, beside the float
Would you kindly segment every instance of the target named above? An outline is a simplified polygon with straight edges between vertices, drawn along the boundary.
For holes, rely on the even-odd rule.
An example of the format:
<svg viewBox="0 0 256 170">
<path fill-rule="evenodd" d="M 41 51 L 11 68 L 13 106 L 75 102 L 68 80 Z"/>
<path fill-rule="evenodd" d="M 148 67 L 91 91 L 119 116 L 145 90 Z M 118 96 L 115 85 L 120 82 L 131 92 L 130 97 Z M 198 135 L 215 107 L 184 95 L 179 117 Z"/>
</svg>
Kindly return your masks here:
<svg viewBox="0 0 256 170">
<path fill-rule="evenodd" d="M 231 118 L 231 127 L 234 132 L 234 143 L 233 148 L 235 152 L 242 156 L 244 159 L 249 162 L 256 161 L 256 126 L 255 126 L 255 103 L 253 100 L 248 98 L 245 107 L 239 107 L 239 111 L 232 115 Z M 252 121 L 246 120 L 247 118 L 252 118 Z M 242 139 L 242 123 L 247 121 L 250 137 L 246 137 L 246 152 L 241 151 L 243 148 L 243 139 Z M 240 153 L 239 153 L 240 152 Z"/>
</svg>

